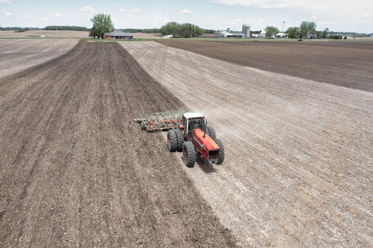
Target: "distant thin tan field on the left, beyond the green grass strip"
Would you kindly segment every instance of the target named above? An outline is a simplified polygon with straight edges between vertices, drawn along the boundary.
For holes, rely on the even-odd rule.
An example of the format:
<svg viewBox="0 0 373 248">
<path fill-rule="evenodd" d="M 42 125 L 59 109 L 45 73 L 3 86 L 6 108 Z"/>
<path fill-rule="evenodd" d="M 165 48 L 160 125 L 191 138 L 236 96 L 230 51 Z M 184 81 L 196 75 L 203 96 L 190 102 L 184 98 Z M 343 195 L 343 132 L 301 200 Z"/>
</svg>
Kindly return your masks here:
<svg viewBox="0 0 373 248">
<path fill-rule="evenodd" d="M 40 37 L 44 35 L 49 38 L 88 38 L 88 31 L 68 31 L 68 30 L 27 30 L 20 33 L 14 31 L 0 31 L 1 37 L 8 38 L 27 38 L 27 37 Z"/>
</svg>

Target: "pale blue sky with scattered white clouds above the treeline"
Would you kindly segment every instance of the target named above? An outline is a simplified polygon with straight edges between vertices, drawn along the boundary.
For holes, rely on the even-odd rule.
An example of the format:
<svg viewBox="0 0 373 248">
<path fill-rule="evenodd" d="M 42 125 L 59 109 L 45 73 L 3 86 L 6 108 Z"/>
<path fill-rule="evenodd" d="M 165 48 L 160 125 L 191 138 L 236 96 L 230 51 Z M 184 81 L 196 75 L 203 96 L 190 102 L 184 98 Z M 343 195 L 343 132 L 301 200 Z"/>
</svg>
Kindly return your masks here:
<svg viewBox="0 0 373 248">
<path fill-rule="evenodd" d="M 0 26 L 91 28 L 94 14 L 111 15 L 115 28 L 160 28 L 169 21 L 204 29 L 282 31 L 314 21 L 317 30 L 373 33 L 373 0 L 0 0 Z"/>
</svg>

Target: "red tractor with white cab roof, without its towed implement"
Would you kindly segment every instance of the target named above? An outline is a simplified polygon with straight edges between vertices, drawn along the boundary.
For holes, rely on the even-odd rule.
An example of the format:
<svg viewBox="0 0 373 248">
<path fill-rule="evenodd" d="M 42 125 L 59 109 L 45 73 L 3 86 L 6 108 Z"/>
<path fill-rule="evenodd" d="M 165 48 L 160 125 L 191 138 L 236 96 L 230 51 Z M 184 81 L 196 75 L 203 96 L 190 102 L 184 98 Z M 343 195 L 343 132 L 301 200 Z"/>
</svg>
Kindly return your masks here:
<svg viewBox="0 0 373 248">
<path fill-rule="evenodd" d="M 183 151 L 183 161 L 193 167 L 196 155 L 207 164 L 221 164 L 224 161 L 224 146 L 216 138 L 213 126 L 207 126 L 201 113 L 184 113 L 175 129 L 167 132 L 167 147 L 171 152 Z"/>
</svg>

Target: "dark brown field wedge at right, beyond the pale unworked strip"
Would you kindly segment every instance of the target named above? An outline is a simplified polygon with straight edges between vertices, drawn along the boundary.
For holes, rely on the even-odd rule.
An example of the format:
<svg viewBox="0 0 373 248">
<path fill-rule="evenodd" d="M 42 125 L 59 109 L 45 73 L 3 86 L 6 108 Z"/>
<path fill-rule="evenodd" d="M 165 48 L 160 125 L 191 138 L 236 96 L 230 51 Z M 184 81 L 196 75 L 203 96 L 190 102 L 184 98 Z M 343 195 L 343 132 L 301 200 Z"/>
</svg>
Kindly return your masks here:
<svg viewBox="0 0 373 248">
<path fill-rule="evenodd" d="M 373 41 L 158 42 L 226 62 L 373 92 Z"/>
</svg>

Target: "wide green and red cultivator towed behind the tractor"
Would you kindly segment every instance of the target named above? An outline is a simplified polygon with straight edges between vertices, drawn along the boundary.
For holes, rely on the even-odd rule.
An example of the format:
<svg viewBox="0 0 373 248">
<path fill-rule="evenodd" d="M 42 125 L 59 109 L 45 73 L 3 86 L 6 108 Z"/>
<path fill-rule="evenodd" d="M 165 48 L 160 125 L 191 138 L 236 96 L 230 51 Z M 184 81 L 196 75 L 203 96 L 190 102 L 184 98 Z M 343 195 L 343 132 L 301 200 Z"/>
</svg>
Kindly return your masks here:
<svg viewBox="0 0 373 248">
<path fill-rule="evenodd" d="M 140 115 L 140 118 L 133 119 L 140 123 L 141 129 L 148 132 L 175 129 L 181 124 L 183 114 L 186 111 L 160 112 L 150 115 Z"/>
</svg>

